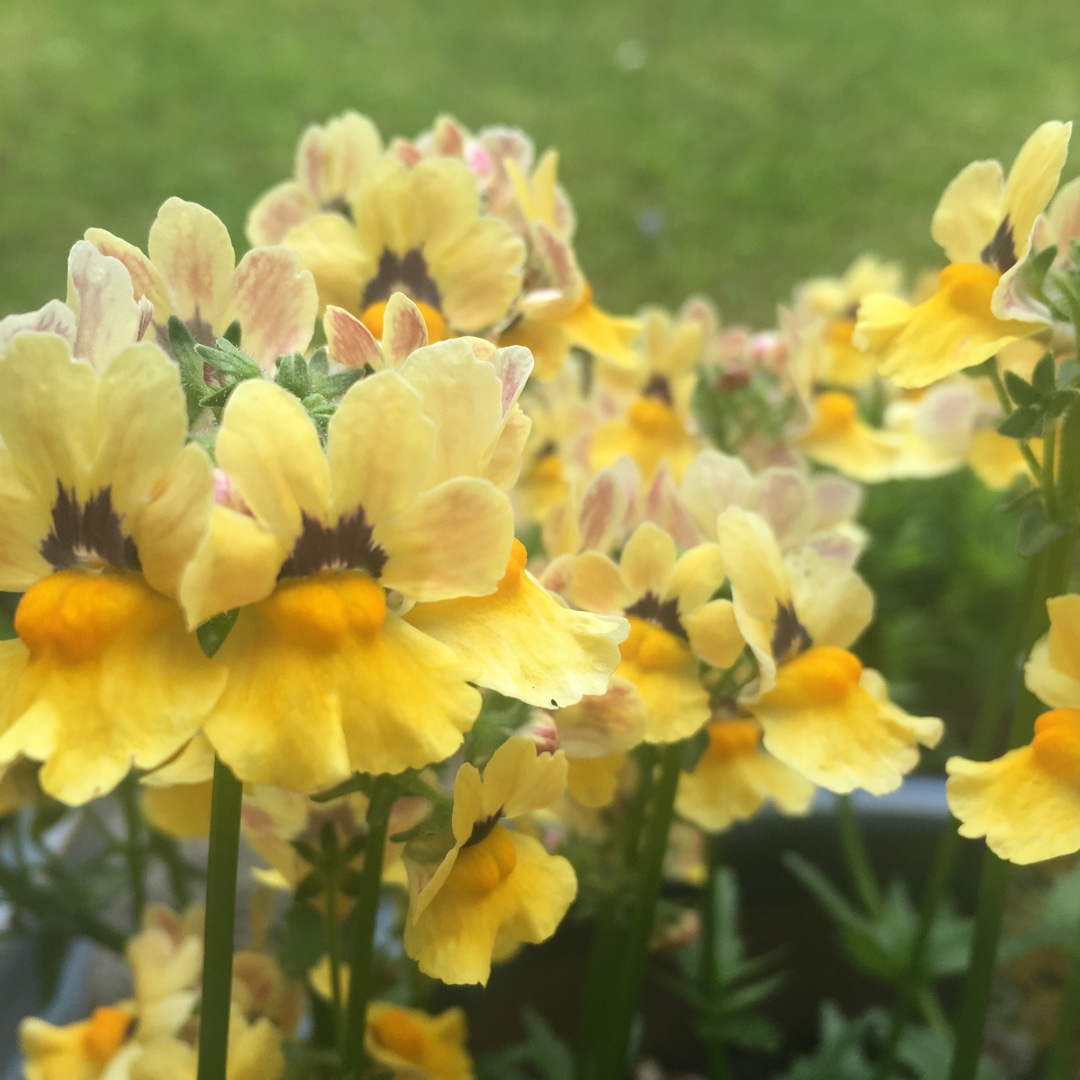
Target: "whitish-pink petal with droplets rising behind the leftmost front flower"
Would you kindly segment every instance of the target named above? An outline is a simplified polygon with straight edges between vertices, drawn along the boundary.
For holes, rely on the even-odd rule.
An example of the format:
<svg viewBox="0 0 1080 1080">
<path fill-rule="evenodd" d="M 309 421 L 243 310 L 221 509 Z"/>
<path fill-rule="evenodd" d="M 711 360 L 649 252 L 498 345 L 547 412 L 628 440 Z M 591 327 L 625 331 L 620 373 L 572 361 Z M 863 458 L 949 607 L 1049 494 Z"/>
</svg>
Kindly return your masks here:
<svg viewBox="0 0 1080 1080">
<path fill-rule="evenodd" d="M 80 240 L 68 256 L 68 305 L 79 320 L 75 355 L 100 370 L 139 338 L 139 306 L 119 259 Z"/>
</svg>

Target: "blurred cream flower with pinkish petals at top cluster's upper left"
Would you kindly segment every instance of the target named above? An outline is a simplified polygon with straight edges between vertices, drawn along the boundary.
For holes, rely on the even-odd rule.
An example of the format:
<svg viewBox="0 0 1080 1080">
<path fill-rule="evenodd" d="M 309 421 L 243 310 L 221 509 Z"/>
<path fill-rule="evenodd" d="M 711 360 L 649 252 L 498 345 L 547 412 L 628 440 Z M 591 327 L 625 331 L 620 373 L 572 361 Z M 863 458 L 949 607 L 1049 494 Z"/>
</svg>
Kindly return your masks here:
<svg viewBox="0 0 1080 1080">
<path fill-rule="evenodd" d="M 295 178 L 271 188 L 248 213 L 247 239 L 257 247 L 280 244 L 316 214 L 342 210 L 381 154 L 378 129 L 359 112 L 312 124 L 296 148 Z"/>
</svg>

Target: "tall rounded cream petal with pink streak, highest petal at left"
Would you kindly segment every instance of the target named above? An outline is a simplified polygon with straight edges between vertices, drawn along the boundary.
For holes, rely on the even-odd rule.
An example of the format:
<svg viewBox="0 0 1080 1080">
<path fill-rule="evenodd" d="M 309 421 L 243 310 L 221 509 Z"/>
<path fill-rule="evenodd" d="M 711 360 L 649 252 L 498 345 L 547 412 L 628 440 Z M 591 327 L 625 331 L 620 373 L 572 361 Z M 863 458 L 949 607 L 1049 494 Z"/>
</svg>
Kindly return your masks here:
<svg viewBox="0 0 1080 1080">
<path fill-rule="evenodd" d="M 224 333 L 237 258 L 220 219 L 198 203 L 166 199 L 150 227 L 147 253 L 167 282 L 174 312 Z"/>
</svg>

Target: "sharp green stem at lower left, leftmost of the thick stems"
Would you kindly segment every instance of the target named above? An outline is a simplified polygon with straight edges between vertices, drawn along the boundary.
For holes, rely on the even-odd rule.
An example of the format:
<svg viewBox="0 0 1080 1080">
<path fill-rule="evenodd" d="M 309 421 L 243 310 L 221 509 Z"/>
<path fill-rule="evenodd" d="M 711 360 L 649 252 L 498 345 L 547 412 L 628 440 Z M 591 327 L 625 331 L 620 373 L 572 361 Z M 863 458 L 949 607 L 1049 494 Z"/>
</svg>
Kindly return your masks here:
<svg viewBox="0 0 1080 1080">
<path fill-rule="evenodd" d="M 199 1013 L 198 1080 L 225 1080 L 232 1000 L 232 948 L 237 920 L 237 861 L 243 784 L 214 759 L 206 866 L 206 941 Z"/>
</svg>

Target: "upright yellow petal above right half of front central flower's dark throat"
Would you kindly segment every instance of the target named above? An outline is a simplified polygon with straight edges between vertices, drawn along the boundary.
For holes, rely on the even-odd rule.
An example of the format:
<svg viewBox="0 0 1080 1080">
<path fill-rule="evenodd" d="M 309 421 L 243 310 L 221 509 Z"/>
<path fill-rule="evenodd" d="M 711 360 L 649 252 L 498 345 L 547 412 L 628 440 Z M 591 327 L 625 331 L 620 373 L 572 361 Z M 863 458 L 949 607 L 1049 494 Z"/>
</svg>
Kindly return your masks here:
<svg viewBox="0 0 1080 1080">
<path fill-rule="evenodd" d="M 407 508 L 435 460 L 434 424 L 420 395 L 396 372 L 355 383 L 330 420 L 326 459 L 338 518 L 360 507 L 368 524 L 378 526 Z"/>
</svg>

